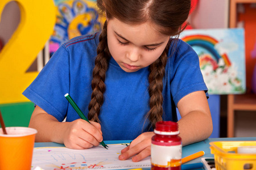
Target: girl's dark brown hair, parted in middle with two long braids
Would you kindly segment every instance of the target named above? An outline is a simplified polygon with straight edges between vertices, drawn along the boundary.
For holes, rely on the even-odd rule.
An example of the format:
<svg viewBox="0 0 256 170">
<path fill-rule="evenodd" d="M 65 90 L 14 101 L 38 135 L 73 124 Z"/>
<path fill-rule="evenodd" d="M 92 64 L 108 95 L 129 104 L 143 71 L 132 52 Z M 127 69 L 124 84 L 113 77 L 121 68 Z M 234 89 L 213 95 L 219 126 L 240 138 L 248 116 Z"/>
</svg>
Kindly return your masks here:
<svg viewBox="0 0 256 170">
<path fill-rule="evenodd" d="M 117 18 L 123 23 L 140 24 L 151 22 L 156 31 L 163 35 L 176 36 L 183 31 L 184 22 L 188 18 L 191 0 L 97 0 L 98 12 L 108 19 Z M 110 52 L 107 42 L 107 23 L 105 22 L 97 48 L 97 57 L 93 69 L 92 100 L 89 103 L 89 120 L 100 122 L 98 115 L 104 101 L 105 75 L 108 69 Z M 161 56 L 149 66 L 148 92 L 150 95 L 150 111 L 147 114 L 152 127 L 162 120 L 163 115 L 163 76 L 167 62 L 167 44 Z"/>
</svg>

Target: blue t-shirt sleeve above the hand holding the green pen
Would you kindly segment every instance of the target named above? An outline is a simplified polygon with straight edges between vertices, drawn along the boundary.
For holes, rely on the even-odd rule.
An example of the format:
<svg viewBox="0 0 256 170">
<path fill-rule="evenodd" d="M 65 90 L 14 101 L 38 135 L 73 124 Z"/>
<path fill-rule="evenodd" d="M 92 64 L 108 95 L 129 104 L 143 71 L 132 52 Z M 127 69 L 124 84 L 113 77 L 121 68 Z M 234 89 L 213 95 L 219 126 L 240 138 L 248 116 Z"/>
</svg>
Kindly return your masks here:
<svg viewBox="0 0 256 170">
<path fill-rule="evenodd" d="M 69 53 L 62 45 L 53 54 L 36 79 L 26 88 L 23 95 L 48 114 L 63 121 L 69 92 Z"/>
</svg>

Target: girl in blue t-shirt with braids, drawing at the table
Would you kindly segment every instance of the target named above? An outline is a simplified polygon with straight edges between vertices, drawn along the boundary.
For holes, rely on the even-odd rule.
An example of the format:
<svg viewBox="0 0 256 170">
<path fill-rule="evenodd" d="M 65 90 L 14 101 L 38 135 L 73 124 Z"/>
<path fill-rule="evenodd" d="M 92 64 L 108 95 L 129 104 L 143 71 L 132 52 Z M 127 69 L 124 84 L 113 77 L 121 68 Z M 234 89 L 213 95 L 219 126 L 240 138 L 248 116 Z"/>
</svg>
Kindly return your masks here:
<svg viewBox="0 0 256 170">
<path fill-rule="evenodd" d="M 90 148 L 104 140 L 133 140 L 119 159 L 150 155 L 152 130 L 178 121 L 183 146 L 212 133 L 207 87 L 191 46 L 171 38 L 187 20 L 190 0 L 98 0 L 101 33 L 64 43 L 23 92 L 36 104 L 36 142 Z M 92 124 L 81 120 L 69 93 Z M 67 118 L 63 122 L 64 118 Z"/>
</svg>

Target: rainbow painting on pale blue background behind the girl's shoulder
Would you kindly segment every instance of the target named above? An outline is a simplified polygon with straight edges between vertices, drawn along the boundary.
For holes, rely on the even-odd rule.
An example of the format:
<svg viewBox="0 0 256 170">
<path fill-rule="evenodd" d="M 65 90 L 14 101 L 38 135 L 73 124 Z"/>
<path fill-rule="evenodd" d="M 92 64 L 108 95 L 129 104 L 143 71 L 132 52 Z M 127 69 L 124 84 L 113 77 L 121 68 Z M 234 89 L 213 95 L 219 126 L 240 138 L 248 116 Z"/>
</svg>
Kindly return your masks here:
<svg viewBox="0 0 256 170">
<path fill-rule="evenodd" d="M 245 92 L 243 29 L 193 29 L 181 33 L 180 39 L 199 55 L 209 94 Z"/>
</svg>

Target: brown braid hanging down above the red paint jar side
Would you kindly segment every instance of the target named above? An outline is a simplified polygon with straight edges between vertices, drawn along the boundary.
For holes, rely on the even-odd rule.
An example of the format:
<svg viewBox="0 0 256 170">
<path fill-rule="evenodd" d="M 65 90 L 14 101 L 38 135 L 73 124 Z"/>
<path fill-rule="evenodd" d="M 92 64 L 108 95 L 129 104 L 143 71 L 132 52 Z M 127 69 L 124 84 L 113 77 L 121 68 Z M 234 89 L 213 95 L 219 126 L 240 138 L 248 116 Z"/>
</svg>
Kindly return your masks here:
<svg viewBox="0 0 256 170">
<path fill-rule="evenodd" d="M 166 49 L 164 49 L 161 56 L 149 67 L 150 74 L 148 76 L 148 93 L 150 95 L 150 111 L 147 113 L 147 117 L 151 122 L 152 128 L 155 128 L 156 122 L 163 120 L 163 77 L 167 63 L 167 52 L 169 46 L 170 42 L 167 44 Z"/>
</svg>

